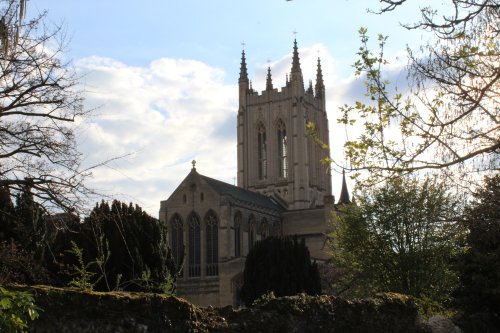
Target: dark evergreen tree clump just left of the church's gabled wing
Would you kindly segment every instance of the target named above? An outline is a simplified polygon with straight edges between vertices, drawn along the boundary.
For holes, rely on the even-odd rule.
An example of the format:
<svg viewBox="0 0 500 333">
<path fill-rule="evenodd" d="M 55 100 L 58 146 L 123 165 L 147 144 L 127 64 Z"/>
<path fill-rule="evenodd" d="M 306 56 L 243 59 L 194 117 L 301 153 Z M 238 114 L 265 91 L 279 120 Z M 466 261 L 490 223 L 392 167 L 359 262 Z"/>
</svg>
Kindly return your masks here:
<svg viewBox="0 0 500 333">
<path fill-rule="evenodd" d="M 72 240 L 82 258 L 74 253 L 65 257 L 73 258 L 72 267 L 85 267 L 96 278 L 96 290 L 172 288 L 178 268 L 167 246 L 166 226 L 137 205 L 116 200 L 97 204 Z M 70 248 L 74 252 L 75 246 L 66 244 Z"/>
</svg>

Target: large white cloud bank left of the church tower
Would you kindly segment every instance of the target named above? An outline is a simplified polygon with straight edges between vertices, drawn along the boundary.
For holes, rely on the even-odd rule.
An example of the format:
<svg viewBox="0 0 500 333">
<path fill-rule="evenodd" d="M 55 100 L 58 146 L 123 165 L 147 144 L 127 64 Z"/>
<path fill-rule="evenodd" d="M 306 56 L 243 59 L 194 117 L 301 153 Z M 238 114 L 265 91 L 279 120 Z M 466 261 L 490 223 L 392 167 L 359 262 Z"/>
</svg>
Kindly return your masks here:
<svg viewBox="0 0 500 333">
<path fill-rule="evenodd" d="M 130 154 L 95 169 L 90 186 L 156 216 L 192 159 L 200 172 L 231 181 L 234 138 L 218 132 L 235 118 L 238 96 L 236 86 L 223 84 L 222 70 L 193 60 L 159 59 L 139 68 L 100 57 L 76 67 L 86 107 L 97 107 L 78 139 L 85 163 Z"/>
</svg>

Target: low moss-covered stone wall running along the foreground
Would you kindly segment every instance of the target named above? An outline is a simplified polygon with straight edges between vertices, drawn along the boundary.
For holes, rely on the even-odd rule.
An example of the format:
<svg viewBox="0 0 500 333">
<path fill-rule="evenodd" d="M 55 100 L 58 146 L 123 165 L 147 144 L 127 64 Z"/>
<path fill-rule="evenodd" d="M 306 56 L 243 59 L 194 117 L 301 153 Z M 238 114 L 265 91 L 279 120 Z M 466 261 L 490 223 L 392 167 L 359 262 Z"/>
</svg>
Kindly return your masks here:
<svg viewBox="0 0 500 333">
<path fill-rule="evenodd" d="M 37 333 L 83 332 L 429 332 L 406 296 L 384 294 L 347 301 L 298 295 L 234 310 L 197 307 L 177 297 L 144 293 L 86 293 L 46 286 L 30 291 L 43 310 L 30 322 Z"/>
</svg>

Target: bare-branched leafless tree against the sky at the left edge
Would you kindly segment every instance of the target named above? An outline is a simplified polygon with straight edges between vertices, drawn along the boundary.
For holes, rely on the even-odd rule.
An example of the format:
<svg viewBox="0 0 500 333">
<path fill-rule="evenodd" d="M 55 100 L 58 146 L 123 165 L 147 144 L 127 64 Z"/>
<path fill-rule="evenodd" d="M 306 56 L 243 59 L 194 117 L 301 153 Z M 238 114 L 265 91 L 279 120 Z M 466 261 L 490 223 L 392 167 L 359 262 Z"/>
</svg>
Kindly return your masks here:
<svg viewBox="0 0 500 333">
<path fill-rule="evenodd" d="M 0 0 L 0 186 L 29 187 L 49 209 L 84 207 L 90 193 L 76 148 L 75 120 L 87 114 L 60 27 L 46 13 L 24 18 L 24 0 Z"/>
</svg>

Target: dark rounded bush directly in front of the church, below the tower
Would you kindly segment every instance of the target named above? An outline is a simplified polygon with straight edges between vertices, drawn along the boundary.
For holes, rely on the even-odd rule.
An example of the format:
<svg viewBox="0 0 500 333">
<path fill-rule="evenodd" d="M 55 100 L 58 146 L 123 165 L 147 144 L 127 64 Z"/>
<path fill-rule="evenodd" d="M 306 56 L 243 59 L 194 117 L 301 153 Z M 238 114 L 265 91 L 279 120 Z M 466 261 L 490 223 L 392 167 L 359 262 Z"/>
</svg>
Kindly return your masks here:
<svg viewBox="0 0 500 333">
<path fill-rule="evenodd" d="M 303 239 L 299 242 L 297 237 L 268 237 L 248 253 L 241 290 L 243 301 L 250 305 L 269 292 L 276 296 L 321 293 L 318 266 L 311 263 Z"/>
</svg>

